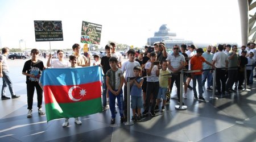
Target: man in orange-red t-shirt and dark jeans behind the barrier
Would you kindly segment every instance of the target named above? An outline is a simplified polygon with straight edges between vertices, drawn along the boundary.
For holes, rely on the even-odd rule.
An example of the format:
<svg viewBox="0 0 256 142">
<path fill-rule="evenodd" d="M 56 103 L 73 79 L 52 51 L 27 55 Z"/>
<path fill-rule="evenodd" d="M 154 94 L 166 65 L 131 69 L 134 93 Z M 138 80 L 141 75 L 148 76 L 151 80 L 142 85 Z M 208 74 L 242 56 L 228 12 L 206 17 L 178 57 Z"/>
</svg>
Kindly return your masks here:
<svg viewBox="0 0 256 142">
<path fill-rule="evenodd" d="M 213 66 L 210 64 L 207 60 L 202 57 L 202 54 L 204 53 L 202 48 L 196 49 L 196 55 L 191 58 L 191 70 L 202 70 L 203 69 L 203 62 L 206 64 Z M 203 97 L 203 85 L 202 85 L 202 72 L 195 72 L 191 73 L 191 76 L 193 78 L 193 92 L 194 92 L 194 99 L 198 99 L 199 101 L 205 102 L 205 99 Z M 197 92 L 196 92 L 196 81 L 198 83 L 198 90 L 199 90 L 199 98 L 197 98 Z"/>
</svg>

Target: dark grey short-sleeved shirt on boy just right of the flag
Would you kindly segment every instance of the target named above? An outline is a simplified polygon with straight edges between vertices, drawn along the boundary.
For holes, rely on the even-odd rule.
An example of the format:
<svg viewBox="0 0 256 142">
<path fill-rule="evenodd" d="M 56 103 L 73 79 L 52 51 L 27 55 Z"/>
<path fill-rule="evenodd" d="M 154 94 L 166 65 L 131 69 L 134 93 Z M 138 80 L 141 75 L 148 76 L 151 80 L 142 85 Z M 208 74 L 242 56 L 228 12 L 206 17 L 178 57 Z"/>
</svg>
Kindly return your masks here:
<svg viewBox="0 0 256 142">
<path fill-rule="evenodd" d="M 121 69 L 117 69 L 113 71 L 112 69 L 108 70 L 106 76 L 109 77 L 109 84 L 113 90 L 118 90 L 121 84 L 121 77 L 123 76 L 123 71 Z"/>
</svg>

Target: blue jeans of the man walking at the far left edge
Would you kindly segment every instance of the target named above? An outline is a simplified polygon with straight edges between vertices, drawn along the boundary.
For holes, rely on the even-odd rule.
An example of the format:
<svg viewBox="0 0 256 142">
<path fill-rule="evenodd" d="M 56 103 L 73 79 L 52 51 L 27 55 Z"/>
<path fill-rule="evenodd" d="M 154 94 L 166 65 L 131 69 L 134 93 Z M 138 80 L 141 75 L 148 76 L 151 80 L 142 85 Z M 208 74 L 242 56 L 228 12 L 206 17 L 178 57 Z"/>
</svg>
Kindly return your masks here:
<svg viewBox="0 0 256 142">
<path fill-rule="evenodd" d="M 15 95 L 14 90 L 13 90 L 13 82 L 11 82 L 11 78 L 9 77 L 9 71 L 2 71 L 3 73 L 3 86 L 2 86 L 2 93 L 1 95 L 5 95 L 6 94 L 6 87 L 8 85 L 9 90 L 11 95 Z"/>
</svg>

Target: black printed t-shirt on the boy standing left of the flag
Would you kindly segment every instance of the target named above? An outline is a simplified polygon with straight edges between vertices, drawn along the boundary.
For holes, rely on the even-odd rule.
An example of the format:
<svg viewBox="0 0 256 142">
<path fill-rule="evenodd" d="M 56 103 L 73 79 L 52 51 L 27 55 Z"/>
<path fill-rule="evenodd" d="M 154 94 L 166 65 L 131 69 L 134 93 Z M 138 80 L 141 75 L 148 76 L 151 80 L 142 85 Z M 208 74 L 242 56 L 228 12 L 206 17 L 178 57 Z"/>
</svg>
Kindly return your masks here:
<svg viewBox="0 0 256 142">
<path fill-rule="evenodd" d="M 28 60 L 25 62 L 22 72 L 28 73 L 28 74 L 34 74 L 37 78 L 32 78 L 27 76 L 26 82 L 39 82 L 40 75 L 44 69 L 44 63 L 41 60 L 38 60 L 37 62 L 32 62 L 31 60 Z"/>
</svg>

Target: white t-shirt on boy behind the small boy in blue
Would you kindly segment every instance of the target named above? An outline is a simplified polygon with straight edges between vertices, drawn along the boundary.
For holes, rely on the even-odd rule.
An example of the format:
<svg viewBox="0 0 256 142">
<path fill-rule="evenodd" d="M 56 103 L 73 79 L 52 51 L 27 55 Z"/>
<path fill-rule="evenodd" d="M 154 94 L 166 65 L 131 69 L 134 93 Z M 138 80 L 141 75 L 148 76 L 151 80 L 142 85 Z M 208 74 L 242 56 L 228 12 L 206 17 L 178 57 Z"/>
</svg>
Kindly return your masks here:
<svg viewBox="0 0 256 142">
<path fill-rule="evenodd" d="M 130 62 L 130 61 L 126 61 L 126 62 L 124 62 L 123 63 L 123 65 L 122 65 L 122 70 L 123 70 L 123 73 L 125 73 L 125 80 L 127 81 L 127 77 L 135 77 L 134 76 L 134 73 L 133 73 L 133 68 L 134 68 L 134 66 L 141 66 L 140 64 L 139 64 L 139 62 L 137 62 L 137 61 L 134 61 L 134 62 Z"/>
</svg>

